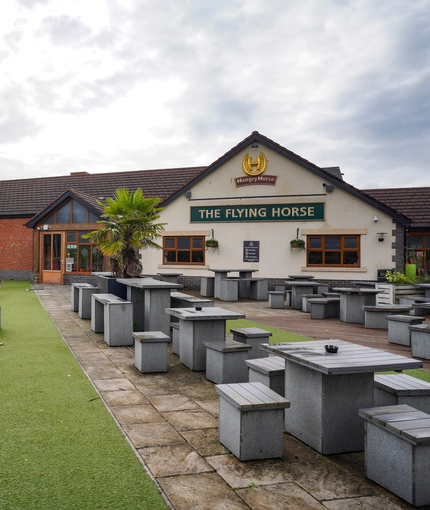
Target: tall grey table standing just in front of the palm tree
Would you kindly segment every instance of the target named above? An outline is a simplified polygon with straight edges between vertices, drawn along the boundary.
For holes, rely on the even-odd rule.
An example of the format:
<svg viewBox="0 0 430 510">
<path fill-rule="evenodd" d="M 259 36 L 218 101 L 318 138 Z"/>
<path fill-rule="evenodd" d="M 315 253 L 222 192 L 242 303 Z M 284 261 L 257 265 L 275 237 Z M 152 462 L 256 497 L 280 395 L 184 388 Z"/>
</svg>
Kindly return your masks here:
<svg viewBox="0 0 430 510">
<path fill-rule="evenodd" d="M 127 300 L 133 303 L 135 329 L 162 331 L 170 336 L 170 317 L 165 309 L 170 306 L 171 289 L 183 285 L 154 278 L 118 278 L 118 282 L 127 287 Z"/>
</svg>

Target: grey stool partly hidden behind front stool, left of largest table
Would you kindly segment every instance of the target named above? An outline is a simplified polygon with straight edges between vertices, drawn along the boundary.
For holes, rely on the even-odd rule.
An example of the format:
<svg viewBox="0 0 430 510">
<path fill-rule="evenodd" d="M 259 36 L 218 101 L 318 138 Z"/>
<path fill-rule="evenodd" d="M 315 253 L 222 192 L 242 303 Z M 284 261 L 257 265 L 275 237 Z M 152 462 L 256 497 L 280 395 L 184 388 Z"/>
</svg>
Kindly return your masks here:
<svg viewBox="0 0 430 510">
<path fill-rule="evenodd" d="M 285 394 L 285 359 L 281 356 L 248 359 L 248 381 L 261 382 L 282 397 Z"/>
</svg>

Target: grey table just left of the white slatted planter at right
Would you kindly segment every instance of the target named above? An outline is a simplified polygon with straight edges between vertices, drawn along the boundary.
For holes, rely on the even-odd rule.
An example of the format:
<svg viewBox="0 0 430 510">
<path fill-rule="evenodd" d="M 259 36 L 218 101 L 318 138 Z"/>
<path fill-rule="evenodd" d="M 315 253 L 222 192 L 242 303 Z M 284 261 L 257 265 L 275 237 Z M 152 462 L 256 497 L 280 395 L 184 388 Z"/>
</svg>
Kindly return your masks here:
<svg viewBox="0 0 430 510">
<path fill-rule="evenodd" d="M 335 287 L 333 292 L 340 295 L 339 318 L 343 322 L 364 324 L 364 306 L 376 306 L 376 294 L 382 290 L 360 287 Z"/>
</svg>

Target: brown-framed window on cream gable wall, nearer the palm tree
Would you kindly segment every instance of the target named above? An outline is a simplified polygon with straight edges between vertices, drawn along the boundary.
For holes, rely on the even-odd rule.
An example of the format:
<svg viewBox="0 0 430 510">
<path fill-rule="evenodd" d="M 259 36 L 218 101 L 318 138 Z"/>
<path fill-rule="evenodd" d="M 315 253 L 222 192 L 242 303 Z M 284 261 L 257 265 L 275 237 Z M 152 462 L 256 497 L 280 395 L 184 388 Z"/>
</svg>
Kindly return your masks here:
<svg viewBox="0 0 430 510">
<path fill-rule="evenodd" d="M 164 237 L 164 264 L 204 264 L 205 238 L 196 237 Z"/>
</svg>

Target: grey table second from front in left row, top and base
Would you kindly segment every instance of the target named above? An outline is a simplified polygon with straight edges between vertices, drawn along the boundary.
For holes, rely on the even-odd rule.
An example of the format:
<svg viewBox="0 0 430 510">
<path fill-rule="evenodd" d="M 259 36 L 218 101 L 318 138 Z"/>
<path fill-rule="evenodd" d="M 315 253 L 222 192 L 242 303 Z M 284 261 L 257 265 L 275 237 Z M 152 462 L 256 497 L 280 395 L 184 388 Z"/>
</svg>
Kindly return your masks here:
<svg viewBox="0 0 430 510">
<path fill-rule="evenodd" d="M 200 308 L 200 307 L 198 307 Z M 166 308 L 166 313 L 179 319 L 179 360 L 190 370 L 206 370 L 204 342 L 224 342 L 226 321 L 244 319 L 242 313 L 217 306 Z"/>
</svg>

